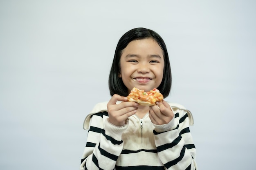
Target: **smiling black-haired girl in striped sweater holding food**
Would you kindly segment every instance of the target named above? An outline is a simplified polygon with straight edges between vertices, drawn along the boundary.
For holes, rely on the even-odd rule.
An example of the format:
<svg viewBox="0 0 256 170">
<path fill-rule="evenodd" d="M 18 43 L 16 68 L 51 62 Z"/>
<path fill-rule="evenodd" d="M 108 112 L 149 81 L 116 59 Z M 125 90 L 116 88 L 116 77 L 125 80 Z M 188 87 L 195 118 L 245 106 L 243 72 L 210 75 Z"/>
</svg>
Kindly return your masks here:
<svg viewBox="0 0 256 170">
<path fill-rule="evenodd" d="M 154 106 L 126 102 L 133 87 L 171 90 L 166 45 L 154 31 L 136 28 L 117 44 L 109 75 L 109 102 L 85 118 L 87 143 L 81 170 L 195 170 L 189 110 L 166 101 Z"/>
</svg>

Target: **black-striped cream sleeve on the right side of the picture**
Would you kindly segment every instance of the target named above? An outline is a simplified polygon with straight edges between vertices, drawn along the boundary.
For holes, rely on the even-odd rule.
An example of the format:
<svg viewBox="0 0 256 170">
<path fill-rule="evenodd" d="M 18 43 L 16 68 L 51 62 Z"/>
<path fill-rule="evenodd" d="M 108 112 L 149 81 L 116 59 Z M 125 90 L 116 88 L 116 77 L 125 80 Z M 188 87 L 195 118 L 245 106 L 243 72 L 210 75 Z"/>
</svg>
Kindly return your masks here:
<svg viewBox="0 0 256 170">
<path fill-rule="evenodd" d="M 157 152 L 168 170 L 196 170 L 195 145 L 189 130 L 186 110 L 175 110 L 169 124 L 155 125 L 154 136 Z"/>
</svg>

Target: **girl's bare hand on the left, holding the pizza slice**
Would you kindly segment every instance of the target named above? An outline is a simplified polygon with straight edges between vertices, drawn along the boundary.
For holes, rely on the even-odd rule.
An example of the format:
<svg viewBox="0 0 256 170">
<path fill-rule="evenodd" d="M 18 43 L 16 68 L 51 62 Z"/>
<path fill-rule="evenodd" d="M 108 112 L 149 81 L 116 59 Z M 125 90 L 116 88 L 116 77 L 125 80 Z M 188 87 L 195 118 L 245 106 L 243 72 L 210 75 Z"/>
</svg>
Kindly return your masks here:
<svg viewBox="0 0 256 170">
<path fill-rule="evenodd" d="M 122 101 L 116 104 L 117 101 Z M 136 102 L 127 102 L 127 97 L 113 95 L 107 104 L 108 121 L 115 126 L 124 126 L 126 119 L 134 115 L 138 109 Z"/>
</svg>

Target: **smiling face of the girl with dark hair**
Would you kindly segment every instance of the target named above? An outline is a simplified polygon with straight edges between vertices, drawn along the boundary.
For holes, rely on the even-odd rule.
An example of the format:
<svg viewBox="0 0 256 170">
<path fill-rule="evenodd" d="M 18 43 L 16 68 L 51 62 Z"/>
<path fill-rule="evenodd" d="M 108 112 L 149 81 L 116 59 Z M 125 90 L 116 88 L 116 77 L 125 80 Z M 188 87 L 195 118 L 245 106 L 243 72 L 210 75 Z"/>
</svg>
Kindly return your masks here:
<svg viewBox="0 0 256 170">
<path fill-rule="evenodd" d="M 151 38 L 131 41 L 120 58 L 121 76 L 128 92 L 133 87 L 150 91 L 163 79 L 164 56 L 161 47 Z"/>
</svg>

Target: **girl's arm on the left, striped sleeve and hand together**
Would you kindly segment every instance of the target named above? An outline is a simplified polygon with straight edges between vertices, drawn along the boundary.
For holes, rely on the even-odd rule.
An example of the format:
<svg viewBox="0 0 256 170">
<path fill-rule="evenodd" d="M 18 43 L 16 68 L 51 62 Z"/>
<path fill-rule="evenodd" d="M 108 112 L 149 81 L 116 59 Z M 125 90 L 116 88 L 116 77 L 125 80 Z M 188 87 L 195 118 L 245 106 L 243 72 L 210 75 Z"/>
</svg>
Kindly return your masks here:
<svg viewBox="0 0 256 170">
<path fill-rule="evenodd" d="M 128 126 L 128 117 L 135 114 L 137 104 L 126 97 L 113 95 L 107 104 L 108 112 L 94 114 L 90 119 L 87 143 L 80 170 L 112 170 L 123 149 L 121 136 Z"/>
</svg>

